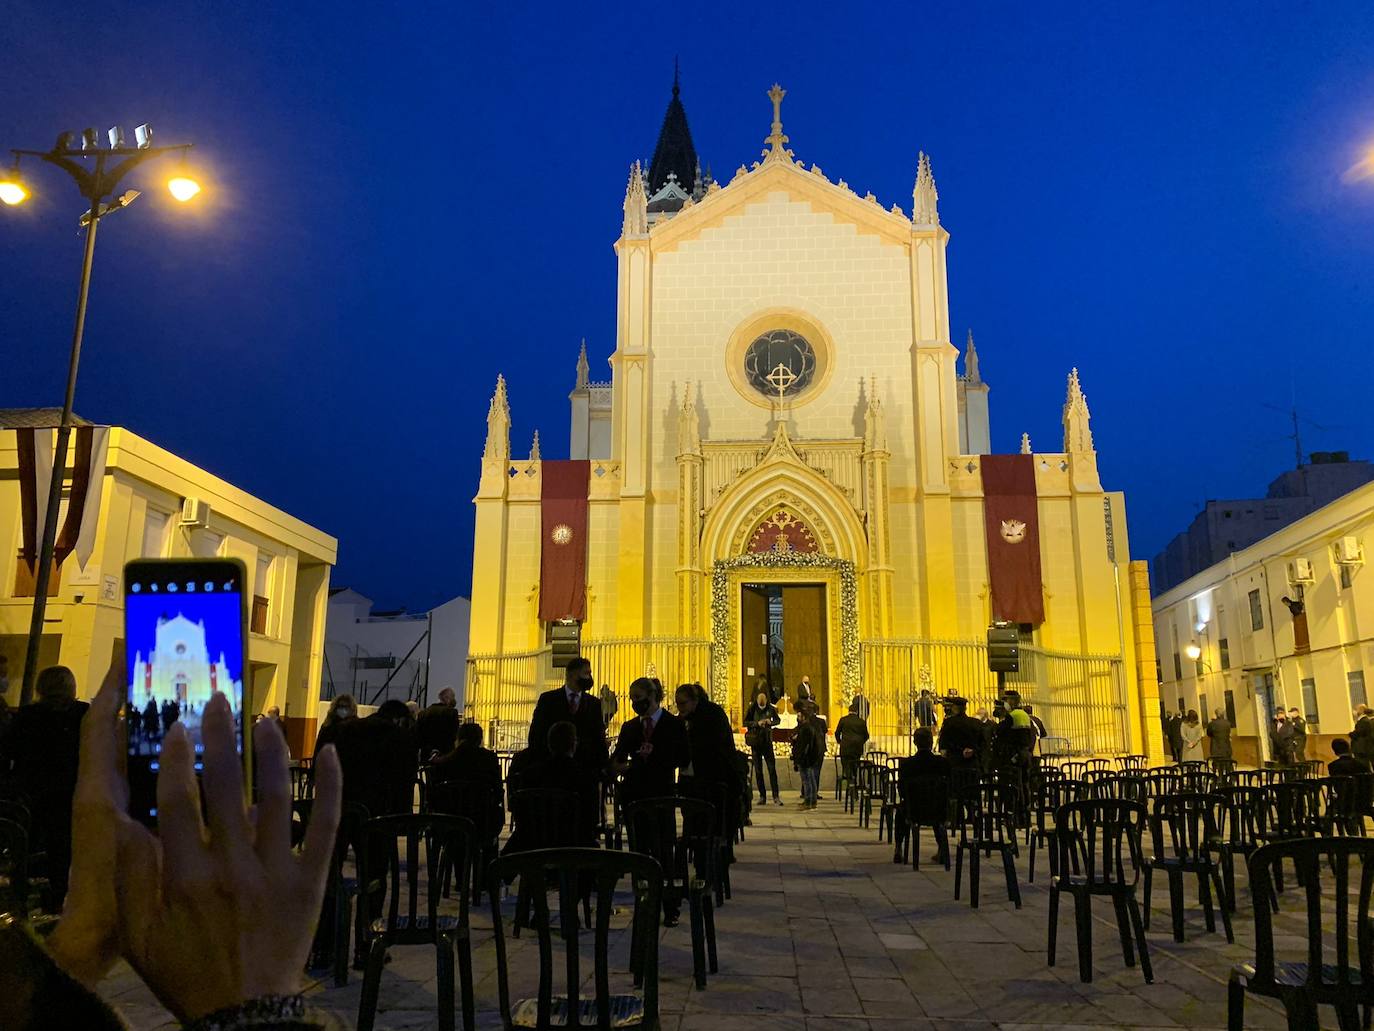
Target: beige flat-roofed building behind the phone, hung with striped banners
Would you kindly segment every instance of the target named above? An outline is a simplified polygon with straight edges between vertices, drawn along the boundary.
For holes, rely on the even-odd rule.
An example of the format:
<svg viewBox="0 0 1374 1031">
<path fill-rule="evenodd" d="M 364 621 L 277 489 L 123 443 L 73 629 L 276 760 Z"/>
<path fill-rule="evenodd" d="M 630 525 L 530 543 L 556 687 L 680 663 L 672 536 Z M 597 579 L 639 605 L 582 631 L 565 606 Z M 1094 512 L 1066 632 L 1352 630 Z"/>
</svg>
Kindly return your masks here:
<svg viewBox="0 0 1374 1031">
<path fill-rule="evenodd" d="M 38 426 L 52 450 L 55 411 L 0 412 L 0 653 L 10 660 L 10 704 L 19 698 L 33 579 L 21 559 L 18 428 Z M 280 707 L 293 753 L 315 742 L 330 568 L 338 542 L 258 498 L 120 426 L 109 428 L 92 550 L 65 558 L 49 588 L 41 665 L 60 663 L 81 697 L 100 685 L 124 636 L 124 564 L 135 558 L 228 557 L 253 588 L 245 708 Z M 67 509 L 70 480 L 59 525 Z M 88 502 L 89 505 L 89 502 Z"/>
</svg>

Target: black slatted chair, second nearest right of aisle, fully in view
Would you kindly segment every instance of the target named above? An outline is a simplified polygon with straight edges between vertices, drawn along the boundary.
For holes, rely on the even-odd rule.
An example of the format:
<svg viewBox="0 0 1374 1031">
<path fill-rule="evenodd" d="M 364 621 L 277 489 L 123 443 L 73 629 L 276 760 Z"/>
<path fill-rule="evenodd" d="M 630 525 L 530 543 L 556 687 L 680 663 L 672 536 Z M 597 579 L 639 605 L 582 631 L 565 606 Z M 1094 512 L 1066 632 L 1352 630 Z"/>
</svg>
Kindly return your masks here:
<svg viewBox="0 0 1374 1031">
<path fill-rule="evenodd" d="M 1125 965 L 1135 966 L 1134 932 L 1145 980 L 1154 983 L 1135 898 L 1143 865 L 1145 806 L 1125 799 L 1070 801 L 1054 814 L 1054 825 L 1059 858 L 1058 873 L 1050 880 L 1050 966 L 1054 966 L 1059 933 L 1059 895 L 1069 892 L 1079 939 L 1079 980 L 1092 980 L 1092 896 L 1099 895 L 1110 898 L 1116 910 Z"/>
</svg>

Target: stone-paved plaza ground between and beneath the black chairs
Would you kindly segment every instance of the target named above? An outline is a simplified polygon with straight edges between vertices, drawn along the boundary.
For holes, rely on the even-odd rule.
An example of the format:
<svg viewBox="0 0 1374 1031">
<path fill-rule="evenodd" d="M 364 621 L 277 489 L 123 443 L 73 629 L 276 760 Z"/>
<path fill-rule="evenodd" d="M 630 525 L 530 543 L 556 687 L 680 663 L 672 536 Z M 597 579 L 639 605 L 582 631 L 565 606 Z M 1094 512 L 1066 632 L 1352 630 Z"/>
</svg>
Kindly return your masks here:
<svg viewBox="0 0 1374 1031">
<path fill-rule="evenodd" d="M 954 900 L 952 872 L 926 862 L 934 851 L 929 832 L 919 873 L 893 865 L 892 845 L 878 841 L 877 815 L 871 830 L 857 828 L 833 800 L 829 764 L 826 773 L 829 790 L 818 811 L 797 808 L 794 775 L 787 778 L 785 808 L 754 808 L 753 826 L 736 848 L 734 898 L 717 911 L 720 973 L 709 977 L 705 990 L 692 984 L 686 913 L 679 927 L 662 931 L 665 1031 L 1226 1026 L 1226 977 L 1232 964 L 1253 954 L 1253 921 L 1243 888 L 1234 946 L 1226 944 L 1220 924 L 1216 933 L 1205 933 L 1195 903 L 1190 905 L 1187 942 L 1180 944 L 1169 935 L 1168 892 L 1157 881 L 1147 932 L 1154 984 L 1145 983 L 1138 966 L 1123 964 L 1110 903 L 1102 900 L 1094 910 L 1094 980 L 1081 984 L 1068 898 L 1061 906 L 1058 965 L 1046 964 L 1043 855 L 1037 856 L 1033 885 L 1025 881 L 1025 852 L 1017 863 L 1021 910 L 1006 899 L 996 861 L 984 865 L 981 906 L 973 910 L 967 894 Z M 1289 895 L 1297 902 L 1296 892 Z M 1289 928 L 1300 932 L 1298 914 L 1292 906 L 1285 909 L 1283 920 L 1292 918 Z M 620 927 L 624 922 L 618 920 Z M 473 935 L 478 1027 L 500 1027 L 485 900 L 474 907 Z M 613 979 L 617 968 L 625 969 L 627 949 L 628 933 L 621 932 L 613 942 Z M 436 1028 L 433 950 L 397 949 L 382 979 L 376 1027 Z M 555 957 L 556 979 L 561 953 Z M 513 950 L 513 965 L 526 973 L 534 969 L 528 933 Z M 584 960 L 583 969 L 589 972 L 589 961 Z M 533 982 L 521 980 L 525 983 L 517 995 L 532 995 Z M 311 1002 L 352 1027 L 360 988 L 360 973 L 344 988 L 312 983 Z M 174 1027 L 126 968 L 106 982 L 103 994 L 135 1028 Z M 1330 1012 L 1322 1013 L 1323 1026 L 1333 1019 Z M 1282 1012 L 1268 1001 L 1246 1001 L 1246 1027 L 1285 1026 Z"/>
</svg>

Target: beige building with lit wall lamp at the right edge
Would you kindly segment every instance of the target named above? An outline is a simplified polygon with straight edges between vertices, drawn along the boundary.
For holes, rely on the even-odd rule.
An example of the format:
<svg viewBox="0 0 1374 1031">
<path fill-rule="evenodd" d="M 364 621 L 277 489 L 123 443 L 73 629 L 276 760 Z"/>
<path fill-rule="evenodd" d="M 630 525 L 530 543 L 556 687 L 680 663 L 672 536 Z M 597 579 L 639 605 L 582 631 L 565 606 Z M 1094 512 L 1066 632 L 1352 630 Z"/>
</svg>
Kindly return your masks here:
<svg viewBox="0 0 1374 1031">
<path fill-rule="evenodd" d="M 1275 707 L 1297 707 L 1308 722 L 1308 757 L 1330 759 L 1330 740 L 1349 734 L 1353 707 L 1369 701 L 1371 540 L 1374 484 L 1156 598 L 1161 702 L 1231 711 L 1242 762 L 1268 757 Z"/>
</svg>

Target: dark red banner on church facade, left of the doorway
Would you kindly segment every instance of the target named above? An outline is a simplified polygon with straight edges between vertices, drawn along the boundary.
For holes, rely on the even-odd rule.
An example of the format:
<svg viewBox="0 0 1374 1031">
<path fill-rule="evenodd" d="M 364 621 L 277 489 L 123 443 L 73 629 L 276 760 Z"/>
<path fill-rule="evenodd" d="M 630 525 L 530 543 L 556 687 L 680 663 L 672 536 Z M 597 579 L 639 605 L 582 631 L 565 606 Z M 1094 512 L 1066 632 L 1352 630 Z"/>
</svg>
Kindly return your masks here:
<svg viewBox="0 0 1374 1031">
<path fill-rule="evenodd" d="M 539 617 L 587 619 L 587 488 L 591 462 L 540 462 Z"/>
</svg>

